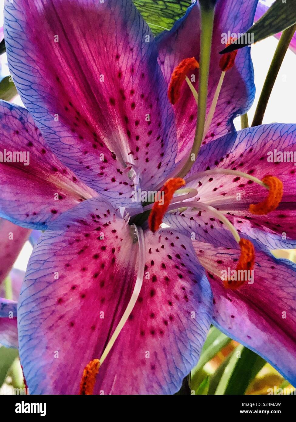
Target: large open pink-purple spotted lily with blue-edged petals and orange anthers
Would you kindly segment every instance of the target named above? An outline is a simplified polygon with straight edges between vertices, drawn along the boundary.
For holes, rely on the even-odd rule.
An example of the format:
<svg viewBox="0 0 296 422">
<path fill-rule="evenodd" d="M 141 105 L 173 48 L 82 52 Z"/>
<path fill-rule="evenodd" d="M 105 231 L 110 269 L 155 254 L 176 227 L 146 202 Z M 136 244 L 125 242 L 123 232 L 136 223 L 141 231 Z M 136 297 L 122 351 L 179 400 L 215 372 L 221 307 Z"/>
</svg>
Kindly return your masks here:
<svg viewBox="0 0 296 422">
<path fill-rule="evenodd" d="M 213 37 L 244 31 L 256 5 L 218 1 Z M 234 131 L 254 96 L 250 50 L 230 66 L 214 42 L 203 146 L 178 177 L 196 123 L 199 13 L 194 3 L 155 40 L 129 0 L 5 5 L 27 109 L 0 103 L 0 142 L 30 151 L 30 165 L 0 166 L 0 212 L 45 230 L 18 301 L 31 394 L 173 394 L 211 323 L 296 381 L 296 268 L 269 252 L 296 243 L 295 169 L 267 160 L 295 149 L 296 125 Z M 228 267 L 254 269 L 254 283 L 223 282 Z"/>
</svg>

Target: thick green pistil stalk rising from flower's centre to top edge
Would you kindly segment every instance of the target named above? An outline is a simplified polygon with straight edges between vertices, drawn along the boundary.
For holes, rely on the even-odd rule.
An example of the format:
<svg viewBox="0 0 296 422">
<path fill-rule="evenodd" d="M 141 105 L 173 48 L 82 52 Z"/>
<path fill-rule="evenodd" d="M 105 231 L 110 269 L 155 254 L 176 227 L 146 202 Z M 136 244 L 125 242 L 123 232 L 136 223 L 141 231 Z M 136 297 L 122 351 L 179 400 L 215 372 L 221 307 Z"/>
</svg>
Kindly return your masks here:
<svg viewBox="0 0 296 422">
<path fill-rule="evenodd" d="M 208 79 L 209 65 L 211 59 L 212 33 L 214 22 L 214 8 L 204 7 L 201 4 L 201 52 L 199 57 L 199 81 L 198 81 L 198 110 L 196 133 L 193 141 L 193 147 L 189 159 L 179 173 L 179 177 L 184 177 L 193 166 L 193 157 L 197 157 L 204 137 L 204 124 L 206 120 L 206 103 L 208 97 Z"/>
</svg>

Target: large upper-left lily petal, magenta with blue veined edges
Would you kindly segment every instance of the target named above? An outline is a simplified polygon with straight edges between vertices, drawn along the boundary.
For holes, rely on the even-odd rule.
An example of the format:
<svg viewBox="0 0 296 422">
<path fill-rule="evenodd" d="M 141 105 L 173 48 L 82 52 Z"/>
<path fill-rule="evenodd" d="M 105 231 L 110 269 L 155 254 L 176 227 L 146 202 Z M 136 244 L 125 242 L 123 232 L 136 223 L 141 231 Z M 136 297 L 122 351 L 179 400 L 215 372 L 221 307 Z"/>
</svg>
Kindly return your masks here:
<svg viewBox="0 0 296 422">
<path fill-rule="evenodd" d="M 106 199 L 130 204 L 126 162 L 143 189 L 174 168 L 174 113 L 157 46 L 131 0 L 14 0 L 5 5 L 5 42 L 44 138 Z"/>
</svg>

